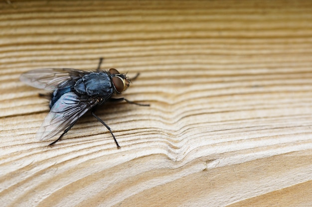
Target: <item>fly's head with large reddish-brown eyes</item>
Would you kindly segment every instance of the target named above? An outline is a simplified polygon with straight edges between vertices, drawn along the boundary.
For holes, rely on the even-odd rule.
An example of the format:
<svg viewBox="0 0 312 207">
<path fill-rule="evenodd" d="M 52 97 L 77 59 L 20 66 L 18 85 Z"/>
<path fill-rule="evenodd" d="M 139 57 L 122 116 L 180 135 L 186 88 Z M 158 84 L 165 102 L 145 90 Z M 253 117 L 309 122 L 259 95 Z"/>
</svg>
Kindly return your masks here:
<svg viewBox="0 0 312 207">
<path fill-rule="evenodd" d="M 109 69 L 109 72 L 111 73 L 112 82 L 116 93 L 121 93 L 129 87 L 131 81 L 128 79 L 126 74 L 120 73 L 117 69 Z"/>
</svg>

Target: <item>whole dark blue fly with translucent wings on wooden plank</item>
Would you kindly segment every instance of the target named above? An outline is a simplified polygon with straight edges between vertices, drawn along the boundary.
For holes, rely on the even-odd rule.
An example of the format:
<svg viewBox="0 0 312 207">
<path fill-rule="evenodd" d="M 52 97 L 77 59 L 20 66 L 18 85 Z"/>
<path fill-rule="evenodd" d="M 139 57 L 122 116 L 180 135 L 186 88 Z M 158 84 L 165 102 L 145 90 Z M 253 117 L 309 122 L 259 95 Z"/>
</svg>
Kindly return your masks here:
<svg viewBox="0 0 312 207">
<path fill-rule="evenodd" d="M 53 90 L 50 99 L 50 112 L 45 117 L 38 130 L 36 138 L 46 140 L 61 131 L 61 136 L 50 143 L 60 140 L 86 112 L 100 121 L 111 133 L 118 148 L 120 148 L 111 128 L 94 114 L 95 108 L 108 101 L 126 101 L 130 104 L 149 106 L 129 101 L 126 98 L 113 98 L 125 91 L 132 79 L 117 69 L 101 70 L 102 58 L 94 71 L 78 69 L 36 69 L 21 74 L 20 80 L 30 86 L 45 90 Z"/>
</svg>

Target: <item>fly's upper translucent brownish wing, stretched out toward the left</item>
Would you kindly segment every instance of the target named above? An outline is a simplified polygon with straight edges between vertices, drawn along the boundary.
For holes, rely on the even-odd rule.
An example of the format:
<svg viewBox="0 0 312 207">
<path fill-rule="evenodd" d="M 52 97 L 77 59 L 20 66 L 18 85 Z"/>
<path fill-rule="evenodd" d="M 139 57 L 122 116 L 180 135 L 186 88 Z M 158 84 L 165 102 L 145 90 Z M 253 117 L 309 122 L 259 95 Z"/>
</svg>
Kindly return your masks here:
<svg viewBox="0 0 312 207">
<path fill-rule="evenodd" d="M 87 71 L 78 69 L 35 69 L 20 75 L 20 80 L 32 87 L 46 90 L 71 86 Z"/>
</svg>

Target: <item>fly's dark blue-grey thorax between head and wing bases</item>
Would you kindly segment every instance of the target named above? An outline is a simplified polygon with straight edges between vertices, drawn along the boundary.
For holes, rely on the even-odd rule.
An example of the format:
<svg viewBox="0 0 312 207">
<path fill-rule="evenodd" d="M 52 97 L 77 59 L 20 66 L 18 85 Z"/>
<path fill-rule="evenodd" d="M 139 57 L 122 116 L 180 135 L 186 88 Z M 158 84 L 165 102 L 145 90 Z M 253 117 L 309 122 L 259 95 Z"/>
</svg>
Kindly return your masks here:
<svg viewBox="0 0 312 207">
<path fill-rule="evenodd" d="M 75 90 L 88 96 L 110 97 L 114 93 L 111 78 L 106 72 L 91 72 L 84 75 L 76 82 Z"/>
</svg>

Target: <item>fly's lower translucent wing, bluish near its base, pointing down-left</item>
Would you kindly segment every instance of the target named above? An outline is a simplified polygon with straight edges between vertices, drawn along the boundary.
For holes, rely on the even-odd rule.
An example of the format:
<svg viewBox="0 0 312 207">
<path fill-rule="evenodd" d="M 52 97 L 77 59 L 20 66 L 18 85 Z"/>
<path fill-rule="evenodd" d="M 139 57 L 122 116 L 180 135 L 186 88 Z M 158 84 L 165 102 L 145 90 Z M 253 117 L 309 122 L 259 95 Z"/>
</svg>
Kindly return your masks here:
<svg viewBox="0 0 312 207">
<path fill-rule="evenodd" d="M 49 139 L 64 131 L 97 103 L 93 99 L 81 100 L 74 92 L 63 94 L 45 117 L 36 139 Z"/>
</svg>

